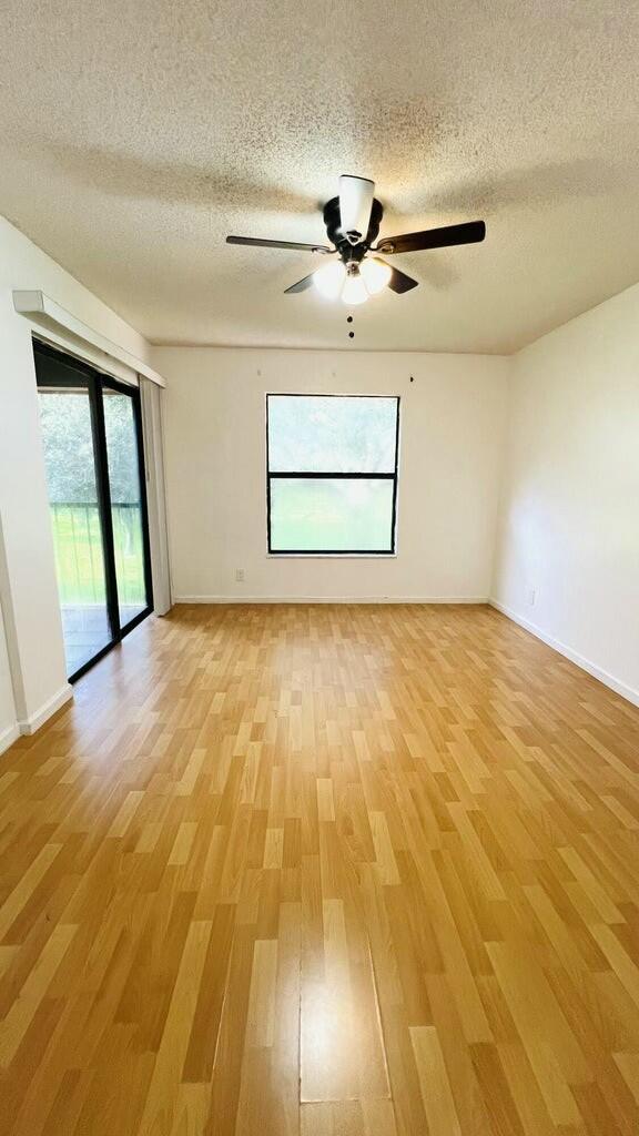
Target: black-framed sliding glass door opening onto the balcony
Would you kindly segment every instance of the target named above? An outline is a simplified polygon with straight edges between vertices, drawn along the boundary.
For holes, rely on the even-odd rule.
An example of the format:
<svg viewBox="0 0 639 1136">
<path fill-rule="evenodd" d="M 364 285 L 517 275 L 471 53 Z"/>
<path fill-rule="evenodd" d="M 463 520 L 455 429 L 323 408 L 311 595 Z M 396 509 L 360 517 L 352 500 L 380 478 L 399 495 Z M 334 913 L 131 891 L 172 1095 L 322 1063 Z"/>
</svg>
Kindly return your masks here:
<svg viewBox="0 0 639 1136">
<path fill-rule="evenodd" d="M 151 610 L 140 398 L 34 343 L 67 673 Z"/>
</svg>

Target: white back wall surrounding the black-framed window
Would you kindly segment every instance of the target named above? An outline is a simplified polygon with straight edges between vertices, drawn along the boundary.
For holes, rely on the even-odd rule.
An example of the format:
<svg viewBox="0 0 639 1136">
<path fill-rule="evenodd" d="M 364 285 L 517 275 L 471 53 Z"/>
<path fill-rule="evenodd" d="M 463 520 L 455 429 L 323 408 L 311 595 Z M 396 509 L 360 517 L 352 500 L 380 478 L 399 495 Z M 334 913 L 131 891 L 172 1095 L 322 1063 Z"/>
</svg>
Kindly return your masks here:
<svg viewBox="0 0 639 1136">
<path fill-rule="evenodd" d="M 488 596 L 508 360 L 157 348 L 152 365 L 167 381 L 176 600 Z M 401 396 L 396 559 L 267 556 L 268 391 Z"/>
</svg>

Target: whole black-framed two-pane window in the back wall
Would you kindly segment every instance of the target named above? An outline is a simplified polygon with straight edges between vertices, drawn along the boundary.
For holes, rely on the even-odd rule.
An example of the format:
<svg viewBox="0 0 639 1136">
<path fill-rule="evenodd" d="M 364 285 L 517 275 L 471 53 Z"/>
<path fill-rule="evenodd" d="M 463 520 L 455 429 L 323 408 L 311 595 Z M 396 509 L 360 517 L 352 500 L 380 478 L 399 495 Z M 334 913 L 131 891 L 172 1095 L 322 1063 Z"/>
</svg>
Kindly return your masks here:
<svg viewBox="0 0 639 1136">
<path fill-rule="evenodd" d="M 391 556 L 399 399 L 267 394 L 268 551 Z"/>
</svg>

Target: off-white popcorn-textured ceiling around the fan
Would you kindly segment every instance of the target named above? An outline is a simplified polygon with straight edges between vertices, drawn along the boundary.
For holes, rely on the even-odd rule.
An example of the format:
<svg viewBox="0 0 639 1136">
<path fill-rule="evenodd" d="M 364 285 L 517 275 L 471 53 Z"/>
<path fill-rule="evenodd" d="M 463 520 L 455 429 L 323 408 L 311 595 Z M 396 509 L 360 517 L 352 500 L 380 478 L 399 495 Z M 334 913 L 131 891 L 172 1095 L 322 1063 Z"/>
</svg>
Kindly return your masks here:
<svg viewBox="0 0 639 1136">
<path fill-rule="evenodd" d="M 224 244 L 323 240 L 340 173 L 382 235 L 488 225 L 397 257 L 356 348 L 512 351 L 639 279 L 633 0 L 3 7 L 0 212 L 153 341 L 348 346 L 282 294 L 312 254 Z"/>
</svg>

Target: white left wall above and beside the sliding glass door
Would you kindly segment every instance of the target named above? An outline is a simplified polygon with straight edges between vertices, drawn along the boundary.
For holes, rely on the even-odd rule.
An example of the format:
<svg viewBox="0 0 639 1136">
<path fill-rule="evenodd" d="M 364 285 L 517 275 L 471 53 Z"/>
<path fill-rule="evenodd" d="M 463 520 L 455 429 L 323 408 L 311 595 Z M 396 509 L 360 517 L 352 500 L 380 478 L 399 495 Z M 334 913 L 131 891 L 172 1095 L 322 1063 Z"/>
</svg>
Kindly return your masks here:
<svg viewBox="0 0 639 1136">
<path fill-rule="evenodd" d="M 40 435 L 31 325 L 14 289 L 40 289 L 73 315 L 148 357 L 146 341 L 22 233 L 0 218 L 0 594 L 15 712 L 27 727 L 68 695 Z M 3 671 L 5 642 L 0 643 Z M 0 705 L 6 678 L 0 678 Z M 5 693 L 6 698 L 6 693 Z"/>
</svg>

